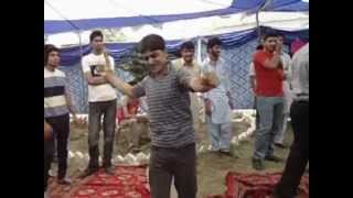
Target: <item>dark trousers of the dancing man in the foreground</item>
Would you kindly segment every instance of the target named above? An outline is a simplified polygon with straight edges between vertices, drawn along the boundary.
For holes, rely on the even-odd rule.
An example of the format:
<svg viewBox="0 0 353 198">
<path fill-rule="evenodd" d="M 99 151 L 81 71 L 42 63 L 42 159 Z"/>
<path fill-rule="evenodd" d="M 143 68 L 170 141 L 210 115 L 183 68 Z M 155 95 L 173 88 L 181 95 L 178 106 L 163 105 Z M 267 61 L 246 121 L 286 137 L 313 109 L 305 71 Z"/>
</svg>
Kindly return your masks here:
<svg viewBox="0 0 353 198">
<path fill-rule="evenodd" d="M 197 183 L 195 144 L 190 144 L 181 148 L 152 146 L 149 169 L 151 197 L 170 197 L 172 178 L 174 178 L 178 197 L 196 197 Z"/>
</svg>

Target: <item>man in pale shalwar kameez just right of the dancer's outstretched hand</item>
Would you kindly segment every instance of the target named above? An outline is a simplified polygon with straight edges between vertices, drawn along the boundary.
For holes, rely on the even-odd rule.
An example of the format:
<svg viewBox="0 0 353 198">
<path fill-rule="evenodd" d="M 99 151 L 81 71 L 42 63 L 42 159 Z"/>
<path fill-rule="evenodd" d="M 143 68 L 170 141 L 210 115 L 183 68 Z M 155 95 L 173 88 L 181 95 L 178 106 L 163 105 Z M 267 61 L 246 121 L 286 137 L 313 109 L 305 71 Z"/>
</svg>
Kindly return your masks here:
<svg viewBox="0 0 353 198">
<path fill-rule="evenodd" d="M 221 46 L 220 38 L 208 40 L 208 57 L 202 64 L 202 73 L 215 72 L 221 82 L 216 88 L 204 94 L 211 150 L 229 155 L 232 139 L 229 77 L 225 63 L 221 58 Z"/>
</svg>

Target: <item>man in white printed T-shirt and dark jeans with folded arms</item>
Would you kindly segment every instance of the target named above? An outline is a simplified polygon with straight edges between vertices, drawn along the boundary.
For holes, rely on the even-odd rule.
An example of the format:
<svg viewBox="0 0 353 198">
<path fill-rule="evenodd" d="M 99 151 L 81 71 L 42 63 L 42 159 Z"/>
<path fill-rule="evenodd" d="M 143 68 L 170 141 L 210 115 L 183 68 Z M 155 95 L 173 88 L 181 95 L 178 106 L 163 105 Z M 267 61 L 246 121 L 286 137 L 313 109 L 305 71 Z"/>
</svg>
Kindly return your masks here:
<svg viewBox="0 0 353 198">
<path fill-rule="evenodd" d="M 103 33 L 94 31 L 89 35 L 93 52 L 82 58 L 82 67 L 88 82 L 88 147 L 89 164 L 82 177 L 92 175 L 99 167 L 99 132 L 104 130 L 103 166 L 107 174 L 113 175 L 111 153 L 116 127 L 117 95 L 106 80 L 107 70 L 114 72 L 114 58 L 105 52 Z M 103 123 L 101 123 L 103 116 Z"/>
</svg>

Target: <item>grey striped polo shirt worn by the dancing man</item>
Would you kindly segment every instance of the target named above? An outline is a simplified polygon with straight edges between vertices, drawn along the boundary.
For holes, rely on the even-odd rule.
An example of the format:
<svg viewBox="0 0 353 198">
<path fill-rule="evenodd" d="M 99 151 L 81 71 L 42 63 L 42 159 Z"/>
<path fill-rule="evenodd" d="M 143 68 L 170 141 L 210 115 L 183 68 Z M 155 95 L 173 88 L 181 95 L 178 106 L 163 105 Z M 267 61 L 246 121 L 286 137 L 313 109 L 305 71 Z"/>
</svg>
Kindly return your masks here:
<svg viewBox="0 0 353 198">
<path fill-rule="evenodd" d="M 170 63 L 167 67 L 160 78 L 145 77 L 132 94 L 147 98 L 152 145 L 178 148 L 195 142 L 189 96 L 191 75 Z"/>
</svg>

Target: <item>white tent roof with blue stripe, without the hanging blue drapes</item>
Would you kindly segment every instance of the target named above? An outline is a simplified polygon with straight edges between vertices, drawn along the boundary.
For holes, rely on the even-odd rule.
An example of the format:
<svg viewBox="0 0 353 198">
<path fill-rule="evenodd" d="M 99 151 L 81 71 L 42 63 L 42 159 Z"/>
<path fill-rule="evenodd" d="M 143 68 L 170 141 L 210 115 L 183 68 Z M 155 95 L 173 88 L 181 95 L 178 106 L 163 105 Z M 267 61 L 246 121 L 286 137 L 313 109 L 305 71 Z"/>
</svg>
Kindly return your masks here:
<svg viewBox="0 0 353 198">
<path fill-rule="evenodd" d="M 309 0 L 303 1 L 309 2 Z M 303 11 L 306 4 L 300 2 L 300 0 L 44 0 L 44 40 L 45 43 L 60 47 L 84 45 L 88 44 L 89 33 L 95 29 L 103 30 L 107 35 L 107 42 L 111 43 L 135 43 L 151 33 L 160 34 L 165 40 L 231 33 L 256 28 L 256 14 L 249 10 L 258 10 L 260 7 L 269 7 L 276 11 L 260 11 L 259 25 L 288 31 L 307 30 L 309 14 L 308 11 Z M 296 8 L 301 11 L 292 11 Z"/>
</svg>

